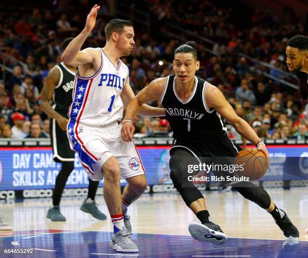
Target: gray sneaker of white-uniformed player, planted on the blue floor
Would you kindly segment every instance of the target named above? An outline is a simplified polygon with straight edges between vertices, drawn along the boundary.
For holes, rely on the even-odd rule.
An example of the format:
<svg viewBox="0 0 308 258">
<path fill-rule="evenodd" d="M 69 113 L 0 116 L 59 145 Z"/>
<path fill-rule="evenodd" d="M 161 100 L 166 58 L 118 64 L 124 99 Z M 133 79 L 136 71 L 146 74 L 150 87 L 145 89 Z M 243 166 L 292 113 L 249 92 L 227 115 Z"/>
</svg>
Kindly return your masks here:
<svg viewBox="0 0 308 258">
<path fill-rule="evenodd" d="M 130 239 L 130 233 L 125 227 L 111 236 L 109 247 L 119 252 L 137 252 L 139 250 L 138 246 Z"/>
</svg>

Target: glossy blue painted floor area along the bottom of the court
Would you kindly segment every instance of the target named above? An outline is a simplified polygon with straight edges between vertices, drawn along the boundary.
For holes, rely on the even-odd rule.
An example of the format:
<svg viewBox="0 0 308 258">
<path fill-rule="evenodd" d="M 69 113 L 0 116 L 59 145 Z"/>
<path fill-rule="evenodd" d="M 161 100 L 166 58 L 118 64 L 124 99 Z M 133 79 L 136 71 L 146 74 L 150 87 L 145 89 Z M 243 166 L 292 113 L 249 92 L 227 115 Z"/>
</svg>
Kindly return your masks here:
<svg viewBox="0 0 308 258">
<path fill-rule="evenodd" d="M 252 257 L 307 258 L 308 241 L 229 238 L 222 245 L 198 242 L 191 236 L 133 234 L 138 253 L 120 253 L 108 247 L 111 232 L 44 233 L 36 237 L 15 235 L 0 237 L 0 257 L 4 258 L 94 258 L 94 257 Z M 14 245 L 12 244 L 14 243 Z M 33 253 L 4 253 L 7 249 L 30 249 Z"/>
</svg>

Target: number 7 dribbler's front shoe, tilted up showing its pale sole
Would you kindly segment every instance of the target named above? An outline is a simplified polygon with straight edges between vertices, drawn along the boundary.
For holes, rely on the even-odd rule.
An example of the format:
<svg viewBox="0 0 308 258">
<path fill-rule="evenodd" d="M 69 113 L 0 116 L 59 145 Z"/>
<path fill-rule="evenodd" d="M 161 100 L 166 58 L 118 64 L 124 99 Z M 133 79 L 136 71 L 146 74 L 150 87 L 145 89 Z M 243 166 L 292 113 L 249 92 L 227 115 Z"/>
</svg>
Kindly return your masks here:
<svg viewBox="0 0 308 258">
<path fill-rule="evenodd" d="M 188 225 L 188 230 L 191 236 L 199 242 L 223 244 L 228 239 L 221 228 L 213 222 L 204 224 L 191 222 Z"/>
</svg>

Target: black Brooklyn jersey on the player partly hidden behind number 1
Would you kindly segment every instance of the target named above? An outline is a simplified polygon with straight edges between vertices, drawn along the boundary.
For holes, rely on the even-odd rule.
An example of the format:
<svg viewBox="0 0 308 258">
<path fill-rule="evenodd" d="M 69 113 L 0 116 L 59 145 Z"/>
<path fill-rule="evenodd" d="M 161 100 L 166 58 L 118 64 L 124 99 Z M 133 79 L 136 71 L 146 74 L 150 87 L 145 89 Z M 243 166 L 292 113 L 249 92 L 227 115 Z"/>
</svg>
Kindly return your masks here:
<svg viewBox="0 0 308 258">
<path fill-rule="evenodd" d="M 59 63 L 57 67 L 60 70 L 60 79 L 52 96 L 53 108 L 56 112 L 66 115 L 72 102 L 75 74 L 63 62 Z"/>
</svg>

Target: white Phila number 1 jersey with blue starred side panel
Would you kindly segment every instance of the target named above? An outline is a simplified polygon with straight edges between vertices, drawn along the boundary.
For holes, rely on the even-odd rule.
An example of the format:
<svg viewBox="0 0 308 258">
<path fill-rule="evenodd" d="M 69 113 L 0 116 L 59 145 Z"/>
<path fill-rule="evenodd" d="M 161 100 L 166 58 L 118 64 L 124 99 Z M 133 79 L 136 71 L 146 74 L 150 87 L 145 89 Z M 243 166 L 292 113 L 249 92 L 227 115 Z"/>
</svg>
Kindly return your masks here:
<svg viewBox="0 0 308 258">
<path fill-rule="evenodd" d="M 77 123 L 104 127 L 123 116 L 120 94 L 128 78 L 128 67 L 119 59 L 116 67 L 103 49 L 99 70 L 91 77 L 82 77 L 76 69 L 73 102 L 68 110 L 70 120 Z"/>
</svg>

